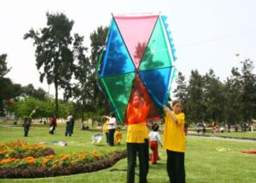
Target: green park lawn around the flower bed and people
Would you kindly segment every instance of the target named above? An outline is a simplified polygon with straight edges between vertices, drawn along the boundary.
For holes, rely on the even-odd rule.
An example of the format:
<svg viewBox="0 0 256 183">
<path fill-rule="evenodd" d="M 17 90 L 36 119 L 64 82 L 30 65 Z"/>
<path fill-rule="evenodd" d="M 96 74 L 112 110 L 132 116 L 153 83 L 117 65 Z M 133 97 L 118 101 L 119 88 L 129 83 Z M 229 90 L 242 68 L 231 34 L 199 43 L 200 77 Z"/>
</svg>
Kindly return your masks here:
<svg viewBox="0 0 256 183">
<path fill-rule="evenodd" d="M 64 126 L 58 125 L 56 134 L 49 135 L 48 127 L 32 126 L 29 131 L 29 137 L 23 137 L 21 127 L 1 126 L 0 123 L 0 142 L 11 142 L 15 140 L 26 140 L 30 144 L 36 144 L 39 141 L 48 142 L 47 146 L 55 149 L 56 153 L 68 154 L 78 152 L 79 150 L 96 151 L 98 149 L 125 149 L 125 130 L 123 131 L 123 140 L 120 146 L 109 147 L 105 145 L 105 139 L 100 144 L 90 143 L 91 135 L 101 133 L 95 130 L 79 130 L 79 124 L 74 129 L 72 137 L 64 136 Z M 230 133 L 229 133 L 230 134 Z M 236 133 L 231 133 L 236 134 Z M 256 133 L 250 134 L 256 138 Z M 238 135 L 238 134 L 236 134 Z M 239 135 L 238 135 L 239 136 Z M 54 140 L 67 141 L 67 146 L 55 146 L 51 142 Z M 218 152 L 218 147 L 230 149 L 227 152 Z M 241 150 L 256 150 L 256 141 L 247 140 L 225 140 L 212 137 L 188 136 L 185 153 L 186 180 L 188 183 L 251 183 L 256 182 L 256 155 L 244 154 Z M 160 161 L 157 165 L 149 165 L 148 182 L 166 183 L 169 182 L 166 173 L 166 151 L 160 150 Z M 112 168 L 101 171 L 73 174 L 70 176 L 49 177 L 42 179 L 0 179 L 0 182 L 126 182 L 126 158 L 120 160 Z M 113 170 L 114 171 L 111 171 Z M 138 173 L 138 168 L 136 169 Z M 138 176 L 136 175 L 136 182 Z"/>
</svg>

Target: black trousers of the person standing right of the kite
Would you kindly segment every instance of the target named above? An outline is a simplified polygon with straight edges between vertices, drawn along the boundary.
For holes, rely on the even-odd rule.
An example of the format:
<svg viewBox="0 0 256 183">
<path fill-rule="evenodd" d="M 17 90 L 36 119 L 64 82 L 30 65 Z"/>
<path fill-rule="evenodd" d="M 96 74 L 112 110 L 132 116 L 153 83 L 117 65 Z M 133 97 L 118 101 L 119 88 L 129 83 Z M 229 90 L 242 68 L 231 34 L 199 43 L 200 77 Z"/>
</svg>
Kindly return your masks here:
<svg viewBox="0 0 256 183">
<path fill-rule="evenodd" d="M 171 183 L 185 183 L 184 152 L 167 150 L 167 174 Z"/>
</svg>

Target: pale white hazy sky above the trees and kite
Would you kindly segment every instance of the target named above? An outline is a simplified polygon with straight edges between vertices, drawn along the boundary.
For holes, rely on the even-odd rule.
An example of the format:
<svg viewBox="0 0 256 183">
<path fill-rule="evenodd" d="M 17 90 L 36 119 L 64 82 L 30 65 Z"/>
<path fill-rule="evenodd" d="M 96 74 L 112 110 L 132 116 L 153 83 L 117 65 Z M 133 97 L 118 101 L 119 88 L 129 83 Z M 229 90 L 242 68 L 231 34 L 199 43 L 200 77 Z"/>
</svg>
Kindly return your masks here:
<svg viewBox="0 0 256 183">
<path fill-rule="evenodd" d="M 84 36 L 86 47 L 90 33 L 109 26 L 111 14 L 160 13 L 168 17 L 177 70 L 189 80 L 192 70 L 204 75 L 212 69 L 224 81 L 242 60 L 255 66 L 255 7 L 255 0 L 0 0 L 0 54 L 8 54 L 12 68 L 5 77 L 54 94 L 53 85 L 39 82 L 32 40 L 23 39 L 31 28 L 46 26 L 47 12 L 74 20 L 72 33 Z"/>
</svg>

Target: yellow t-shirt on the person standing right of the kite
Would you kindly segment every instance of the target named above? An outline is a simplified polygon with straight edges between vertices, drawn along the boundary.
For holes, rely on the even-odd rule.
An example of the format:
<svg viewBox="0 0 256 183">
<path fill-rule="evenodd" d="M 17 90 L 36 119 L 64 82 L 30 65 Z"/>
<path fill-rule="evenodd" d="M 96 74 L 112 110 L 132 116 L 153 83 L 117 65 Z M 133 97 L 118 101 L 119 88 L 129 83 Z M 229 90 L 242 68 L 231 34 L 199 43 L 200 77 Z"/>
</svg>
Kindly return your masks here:
<svg viewBox="0 0 256 183">
<path fill-rule="evenodd" d="M 183 112 L 179 114 L 172 113 L 177 117 L 177 123 L 174 122 L 170 114 L 166 112 L 163 148 L 173 152 L 185 152 L 185 115 Z"/>
</svg>

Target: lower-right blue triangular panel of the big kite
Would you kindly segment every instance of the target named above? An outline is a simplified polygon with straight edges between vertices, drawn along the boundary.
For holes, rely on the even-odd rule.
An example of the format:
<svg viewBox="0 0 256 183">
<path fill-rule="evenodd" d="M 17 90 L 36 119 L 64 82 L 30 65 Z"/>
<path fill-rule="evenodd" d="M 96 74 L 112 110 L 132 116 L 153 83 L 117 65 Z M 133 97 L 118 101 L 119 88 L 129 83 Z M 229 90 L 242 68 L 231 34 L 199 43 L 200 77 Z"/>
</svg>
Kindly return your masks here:
<svg viewBox="0 0 256 183">
<path fill-rule="evenodd" d="M 139 72 L 145 87 L 148 89 L 148 93 L 159 106 L 163 106 L 166 103 L 171 73 L 172 67 Z"/>
</svg>

